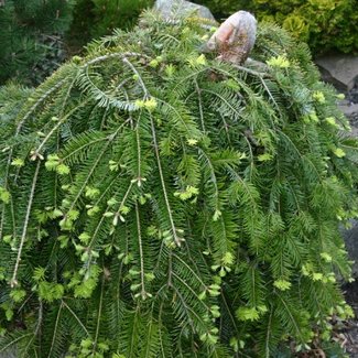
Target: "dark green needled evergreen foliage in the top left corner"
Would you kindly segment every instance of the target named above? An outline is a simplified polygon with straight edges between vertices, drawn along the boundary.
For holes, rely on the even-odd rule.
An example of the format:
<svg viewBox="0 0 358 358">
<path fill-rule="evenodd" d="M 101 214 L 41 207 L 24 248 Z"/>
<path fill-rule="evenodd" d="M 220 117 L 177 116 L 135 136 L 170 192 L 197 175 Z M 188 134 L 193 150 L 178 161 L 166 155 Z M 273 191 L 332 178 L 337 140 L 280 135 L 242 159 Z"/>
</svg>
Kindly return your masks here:
<svg viewBox="0 0 358 358">
<path fill-rule="evenodd" d="M 65 58 L 63 35 L 75 1 L 0 1 L 0 84 L 40 84 Z"/>
</svg>

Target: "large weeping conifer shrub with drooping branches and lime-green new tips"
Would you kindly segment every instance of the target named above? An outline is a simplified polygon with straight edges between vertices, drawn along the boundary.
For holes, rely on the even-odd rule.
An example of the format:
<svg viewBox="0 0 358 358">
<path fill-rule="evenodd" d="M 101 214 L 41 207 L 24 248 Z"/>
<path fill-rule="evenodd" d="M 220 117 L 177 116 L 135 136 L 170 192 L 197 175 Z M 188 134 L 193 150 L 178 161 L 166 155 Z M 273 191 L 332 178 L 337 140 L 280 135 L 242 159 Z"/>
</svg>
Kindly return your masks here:
<svg viewBox="0 0 358 358">
<path fill-rule="evenodd" d="M 357 141 L 304 45 L 251 57 L 148 12 L 37 89 L 1 91 L 0 352 L 273 357 L 350 314 Z"/>
</svg>

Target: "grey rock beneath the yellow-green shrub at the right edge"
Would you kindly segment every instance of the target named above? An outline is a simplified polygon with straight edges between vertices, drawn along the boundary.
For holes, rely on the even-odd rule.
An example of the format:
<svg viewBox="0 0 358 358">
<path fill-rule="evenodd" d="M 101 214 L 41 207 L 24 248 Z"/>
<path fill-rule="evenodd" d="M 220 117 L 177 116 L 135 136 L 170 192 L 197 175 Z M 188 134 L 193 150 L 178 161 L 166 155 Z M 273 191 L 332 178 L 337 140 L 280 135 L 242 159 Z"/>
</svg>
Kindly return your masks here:
<svg viewBox="0 0 358 358">
<path fill-rule="evenodd" d="M 333 55 L 316 59 L 323 80 L 332 83 L 339 90 L 350 90 L 358 79 L 358 56 Z"/>
</svg>

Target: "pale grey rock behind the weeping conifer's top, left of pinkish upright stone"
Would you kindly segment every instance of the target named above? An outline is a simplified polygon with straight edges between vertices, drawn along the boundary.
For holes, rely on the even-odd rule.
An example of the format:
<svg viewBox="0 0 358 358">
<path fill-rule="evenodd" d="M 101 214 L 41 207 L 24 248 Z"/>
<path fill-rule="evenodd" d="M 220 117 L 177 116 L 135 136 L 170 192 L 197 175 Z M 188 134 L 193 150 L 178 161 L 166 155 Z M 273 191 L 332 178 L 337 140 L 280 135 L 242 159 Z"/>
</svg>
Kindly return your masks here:
<svg viewBox="0 0 358 358">
<path fill-rule="evenodd" d="M 185 0 L 156 0 L 154 9 L 159 10 L 165 19 L 185 18 L 196 14 L 215 21 L 208 8 Z"/>
</svg>

